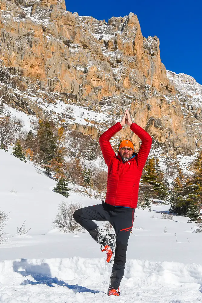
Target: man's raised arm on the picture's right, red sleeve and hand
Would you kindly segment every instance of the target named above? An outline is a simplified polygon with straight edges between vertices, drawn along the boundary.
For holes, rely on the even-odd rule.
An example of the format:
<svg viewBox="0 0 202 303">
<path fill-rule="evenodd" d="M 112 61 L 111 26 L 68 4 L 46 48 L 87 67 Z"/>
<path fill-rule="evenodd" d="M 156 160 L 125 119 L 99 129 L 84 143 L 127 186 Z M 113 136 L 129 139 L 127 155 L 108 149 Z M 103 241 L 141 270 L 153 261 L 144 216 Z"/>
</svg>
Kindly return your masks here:
<svg viewBox="0 0 202 303">
<path fill-rule="evenodd" d="M 127 125 L 142 141 L 138 154 L 136 156 L 137 166 L 140 169 L 144 168 L 151 149 L 152 138 L 151 136 L 139 125 L 132 123 L 129 112 L 127 113 Z"/>
</svg>

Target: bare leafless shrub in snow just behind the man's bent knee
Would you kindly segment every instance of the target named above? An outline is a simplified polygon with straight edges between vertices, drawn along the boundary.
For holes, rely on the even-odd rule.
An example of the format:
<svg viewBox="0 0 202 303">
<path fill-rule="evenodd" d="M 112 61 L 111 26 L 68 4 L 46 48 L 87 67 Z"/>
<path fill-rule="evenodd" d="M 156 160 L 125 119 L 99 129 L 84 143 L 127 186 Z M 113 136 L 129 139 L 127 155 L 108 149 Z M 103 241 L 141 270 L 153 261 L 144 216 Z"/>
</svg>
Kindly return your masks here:
<svg viewBox="0 0 202 303">
<path fill-rule="evenodd" d="M 76 202 L 67 204 L 65 201 L 62 201 L 58 206 L 58 213 L 53 221 L 53 228 L 61 228 L 64 232 L 84 231 L 84 228 L 73 218 L 74 212 L 82 207 L 83 205 Z"/>
</svg>

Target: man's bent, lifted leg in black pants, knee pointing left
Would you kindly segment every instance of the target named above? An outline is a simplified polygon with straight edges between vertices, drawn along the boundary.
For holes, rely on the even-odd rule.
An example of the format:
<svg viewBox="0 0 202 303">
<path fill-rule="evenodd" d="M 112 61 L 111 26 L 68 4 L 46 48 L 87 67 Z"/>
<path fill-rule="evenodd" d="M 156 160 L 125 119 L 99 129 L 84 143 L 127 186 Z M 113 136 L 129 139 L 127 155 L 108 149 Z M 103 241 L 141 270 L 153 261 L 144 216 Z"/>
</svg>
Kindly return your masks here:
<svg viewBox="0 0 202 303">
<path fill-rule="evenodd" d="M 110 219 L 107 207 L 106 205 L 104 206 L 103 203 L 77 209 L 73 214 L 73 218 L 89 232 L 94 240 L 99 243 L 102 239 L 100 239 L 100 241 L 98 239 L 98 225 L 92 220 L 108 221 Z"/>
</svg>

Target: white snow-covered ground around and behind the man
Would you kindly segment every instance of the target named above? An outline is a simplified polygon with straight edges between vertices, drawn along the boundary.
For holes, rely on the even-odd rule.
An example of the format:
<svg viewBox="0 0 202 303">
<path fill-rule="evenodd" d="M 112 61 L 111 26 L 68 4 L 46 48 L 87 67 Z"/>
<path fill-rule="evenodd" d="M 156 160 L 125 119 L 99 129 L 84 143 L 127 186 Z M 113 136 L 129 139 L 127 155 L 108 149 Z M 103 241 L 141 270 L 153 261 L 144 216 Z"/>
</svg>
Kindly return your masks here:
<svg viewBox="0 0 202 303">
<path fill-rule="evenodd" d="M 153 205 L 151 212 L 136 209 L 121 297 L 107 297 L 112 265 L 100 245 L 88 233 L 52 228 L 62 200 L 83 205 L 100 201 L 53 192 L 55 181 L 2 150 L 0 168 L 0 210 L 10 218 L 8 239 L 0 246 L 0 302 L 202 301 L 202 234 L 193 232 L 195 224 L 186 217 L 162 219 L 169 205 Z M 17 227 L 25 220 L 30 230 L 19 236 Z"/>
</svg>

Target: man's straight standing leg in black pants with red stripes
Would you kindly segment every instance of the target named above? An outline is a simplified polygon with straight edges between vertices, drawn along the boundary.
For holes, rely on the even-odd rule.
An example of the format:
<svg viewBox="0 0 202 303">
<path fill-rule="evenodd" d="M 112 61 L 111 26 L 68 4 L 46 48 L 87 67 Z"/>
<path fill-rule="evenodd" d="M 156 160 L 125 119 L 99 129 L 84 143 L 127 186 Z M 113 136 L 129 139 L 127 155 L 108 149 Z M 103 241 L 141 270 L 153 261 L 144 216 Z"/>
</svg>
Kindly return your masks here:
<svg viewBox="0 0 202 303">
<path fill-rule="evenodd" d="M 115 211 L 116 215 L 113 219 L 113 225 L 117 239 L 109 290 L 118 289 L 121 279 L 123 278 L 126 263 L 127 243 L 134 221 L 133 208 L 118 208 Z"/>
</svg>

